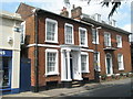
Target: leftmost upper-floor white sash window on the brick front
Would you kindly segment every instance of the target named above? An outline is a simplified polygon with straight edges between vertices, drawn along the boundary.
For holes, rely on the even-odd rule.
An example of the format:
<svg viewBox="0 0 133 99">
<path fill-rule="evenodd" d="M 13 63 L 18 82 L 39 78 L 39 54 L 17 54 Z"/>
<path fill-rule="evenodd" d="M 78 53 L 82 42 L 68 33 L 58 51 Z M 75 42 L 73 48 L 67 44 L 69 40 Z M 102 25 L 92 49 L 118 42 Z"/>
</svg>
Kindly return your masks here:
<svg viewBox="0 0 133 99">
<path fill-rule="evenodd" d="M 58 22 L 45 19 L 45 42 L 58 43 Z"/>
</svg>

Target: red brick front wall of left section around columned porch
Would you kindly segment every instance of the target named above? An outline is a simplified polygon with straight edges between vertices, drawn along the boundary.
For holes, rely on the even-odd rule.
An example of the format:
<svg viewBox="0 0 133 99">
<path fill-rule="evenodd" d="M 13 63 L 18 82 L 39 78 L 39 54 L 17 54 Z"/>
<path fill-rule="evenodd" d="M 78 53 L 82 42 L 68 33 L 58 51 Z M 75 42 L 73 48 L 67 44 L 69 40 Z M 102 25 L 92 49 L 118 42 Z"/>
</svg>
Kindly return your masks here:
<svg viewBox="0 0 133 99">
<path fill-rule="evenodd" d="M 52 43 L 47 43 L 45 41 L 45 19 L 53 19 L 58 21 L 58 44 L 52 44 Z M 75 21 L 66 20 L 63 18 L 59 16 L 53 16 L 50 13 L 41 14 L 39 16 L 39 44 L 51 44 L 51 45 L 62 45 L 64 44 L 64 24 L 70 23 L 73 25 L 73 33 L 74 33 L 74 45 L 79 45 L 79 26 L 85 28 L 88 30 L 88 42 L 89 42 L 89 48 L 92 48 L 92 37 L 91 37 L 91 29 L 89 25 L 81 24 Z M 47 47 L 51 48 L 51 47 Z M 54 48 L 59 51 L 59 73 L 60 75 L 58 76 L 48 76 L 45 77 L 45 47 L 39 47 L 39 84 L 40 86 L 44 86 L 47 81 L 61 81 L 61 53 L 60 48 Z M 83 74 L 83 77 L 89 78 L 89 79 L 94 79 L 94 73 L 93 73 L 93 53 L 89 53 L 89 66 L 90 66 L 90 73 L 89 74 Z"/>
</svg>

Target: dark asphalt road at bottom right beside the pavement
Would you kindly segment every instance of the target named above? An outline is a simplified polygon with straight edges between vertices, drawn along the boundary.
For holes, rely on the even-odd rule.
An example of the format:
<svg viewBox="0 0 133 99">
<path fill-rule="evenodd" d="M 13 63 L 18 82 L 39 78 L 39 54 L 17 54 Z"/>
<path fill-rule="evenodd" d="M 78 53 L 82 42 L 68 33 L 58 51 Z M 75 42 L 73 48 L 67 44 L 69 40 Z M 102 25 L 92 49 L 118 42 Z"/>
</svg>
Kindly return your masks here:
<svg viewBox="0 0 133 99">
<path fill-rule="evenodd" d="M 133 90 L 131 88 L 131 81 L 117 82 L 112 86 L 100 87 L 96 89 L 88 90 L 72 95 L 71 97 L 131 97 Z M 133 96 L 132 96 L 133 98 Z"/>
</svg>

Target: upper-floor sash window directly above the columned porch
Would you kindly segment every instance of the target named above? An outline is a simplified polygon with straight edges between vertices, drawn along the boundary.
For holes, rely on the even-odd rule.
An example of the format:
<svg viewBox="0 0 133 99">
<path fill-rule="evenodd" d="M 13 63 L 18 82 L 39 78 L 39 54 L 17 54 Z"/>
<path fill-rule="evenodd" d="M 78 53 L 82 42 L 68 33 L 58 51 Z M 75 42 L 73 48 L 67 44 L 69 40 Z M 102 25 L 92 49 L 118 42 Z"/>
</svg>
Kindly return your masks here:
<svg viewBox="0 0 133 99">
<path fill-rule="evenodd" d="M 74 44 L 73 25 L 65 23 L 64 26 L 65 44 Z"/>
</svg>

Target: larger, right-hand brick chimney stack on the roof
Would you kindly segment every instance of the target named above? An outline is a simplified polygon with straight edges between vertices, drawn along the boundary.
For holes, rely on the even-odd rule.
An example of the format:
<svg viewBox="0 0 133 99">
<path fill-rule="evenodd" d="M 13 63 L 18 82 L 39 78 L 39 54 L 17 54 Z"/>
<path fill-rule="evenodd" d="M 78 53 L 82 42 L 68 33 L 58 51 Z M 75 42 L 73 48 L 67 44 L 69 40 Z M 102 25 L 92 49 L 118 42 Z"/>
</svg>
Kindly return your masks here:
<svg viewBox="0 0 133 99">
<path fill-rule="evenodd" d="M 76 7 L 71 10 L 71 18 L 72 19 L 80 19 L 80 15 L 82 14 L 82 8 L 81 7 Z"/>
</svg>

